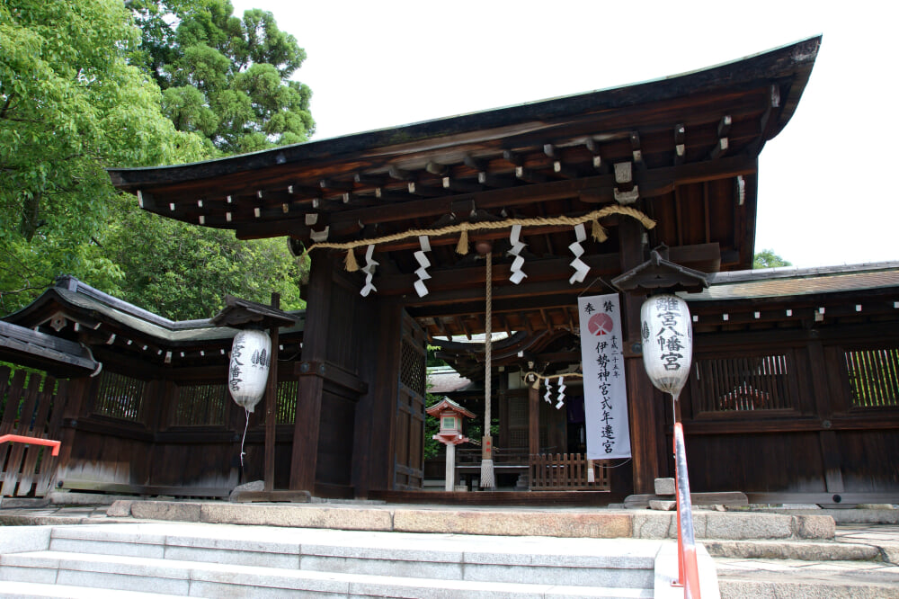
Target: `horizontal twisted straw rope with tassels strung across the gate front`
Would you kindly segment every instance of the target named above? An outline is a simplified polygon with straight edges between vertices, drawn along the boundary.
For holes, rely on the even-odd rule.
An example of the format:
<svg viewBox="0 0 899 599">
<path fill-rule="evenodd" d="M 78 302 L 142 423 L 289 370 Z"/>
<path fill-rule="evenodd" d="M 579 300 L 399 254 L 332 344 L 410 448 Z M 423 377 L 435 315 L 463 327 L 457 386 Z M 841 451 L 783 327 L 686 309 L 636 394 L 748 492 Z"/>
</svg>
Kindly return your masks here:
<svg viewBox="0 0 899 599">
<path fill-rule="evenodd" d="M 453 233 L 460 233 L 458 246 L 456 246 L 457 254 L 465 255 L 468 253 L 468 231 L 495 230 L 498 228 L 511 228 L 513 225 L 521 225 L 522 227 L 553 227 L 557 225 L 569 225 L 574 227 L 585 222 L 591 223 L 591 232 L 594 240 L 602 243 L 609 238 L 606 229 L 600 224 L 600 219 L 612 214 L 622 214 L 632 219 L 640 221 L 645 228 L 654 228 L 655 221 L 647 217 L 640 210 L 629 206 L 611 205 L 601 210 L 593 210 L 583 216 L 569 217 L 535 217 L 533 219 L 505 219 L 505 220 L 488 220 L 485 222 L 460 222 L 458 225 L 448 225 L 441 228 L 413 228 L 403 233 L 394 233 L 385 237 L 374 237 L 371 239 L 357 239 L 356 241 L 347 241 L 343 243 L 321 242 L 308 246 L 300 258 L 305 257 L 310 251 L 318 248 L 323 249 L 339 249 L 348 250 L 345 260 L 345 267 L 351 273 L 359 269 L 355 256 L 352 256 L 352 250 L 361 246 L 371 246 L 377 244 L 386 244 L 393 241 L 400 241 L 410 237 L 442 237 Z M 352 257 L 351 257 L 352 256 Z"/>
</svg>

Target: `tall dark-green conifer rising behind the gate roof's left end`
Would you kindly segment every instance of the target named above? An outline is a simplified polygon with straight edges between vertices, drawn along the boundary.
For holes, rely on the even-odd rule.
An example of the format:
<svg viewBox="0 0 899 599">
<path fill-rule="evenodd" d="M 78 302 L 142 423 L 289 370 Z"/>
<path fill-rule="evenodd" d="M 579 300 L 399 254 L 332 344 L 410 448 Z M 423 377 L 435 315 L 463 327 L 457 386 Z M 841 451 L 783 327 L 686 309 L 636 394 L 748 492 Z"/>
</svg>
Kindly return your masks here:
<svg viewBox="0 0 899 599">
<path fill-rule="evenodd" d="M 175 127 L 225 154 L 307 141 L 312 92 L 290 77 L 306 59 L 271 13 L 227 0 L 126 0 L 142 31 L 133 59 L 163 90 Z"/>
</svg>

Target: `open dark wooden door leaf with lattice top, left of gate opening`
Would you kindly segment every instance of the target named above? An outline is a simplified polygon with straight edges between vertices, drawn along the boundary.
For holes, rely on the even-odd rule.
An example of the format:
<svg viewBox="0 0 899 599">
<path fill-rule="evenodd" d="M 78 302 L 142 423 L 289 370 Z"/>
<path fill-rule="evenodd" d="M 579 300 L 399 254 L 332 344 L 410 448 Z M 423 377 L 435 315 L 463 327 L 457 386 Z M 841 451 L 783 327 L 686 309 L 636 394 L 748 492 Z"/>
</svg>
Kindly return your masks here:
<svg viewBox="0 0 899 599">
<path fill-rule="evenodd" d="M 403 314 L 396 393 L 394 489 L 420 490 L 424 475 L 424 393 L 427 335 Z"/>
</svg>

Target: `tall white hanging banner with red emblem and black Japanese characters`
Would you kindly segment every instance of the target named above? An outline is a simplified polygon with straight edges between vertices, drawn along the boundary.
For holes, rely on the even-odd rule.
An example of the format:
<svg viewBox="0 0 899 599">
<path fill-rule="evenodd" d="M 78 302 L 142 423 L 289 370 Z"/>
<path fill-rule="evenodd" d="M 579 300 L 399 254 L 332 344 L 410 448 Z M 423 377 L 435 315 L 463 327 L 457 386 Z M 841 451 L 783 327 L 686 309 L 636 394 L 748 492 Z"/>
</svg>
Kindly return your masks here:
<svg viewBox="0 0 899 599">
<path fill-rule="evenodd" d="M 628 389 L 618 293 L 577 299 L 587 460 L 630 457 Z"/>
</svg>

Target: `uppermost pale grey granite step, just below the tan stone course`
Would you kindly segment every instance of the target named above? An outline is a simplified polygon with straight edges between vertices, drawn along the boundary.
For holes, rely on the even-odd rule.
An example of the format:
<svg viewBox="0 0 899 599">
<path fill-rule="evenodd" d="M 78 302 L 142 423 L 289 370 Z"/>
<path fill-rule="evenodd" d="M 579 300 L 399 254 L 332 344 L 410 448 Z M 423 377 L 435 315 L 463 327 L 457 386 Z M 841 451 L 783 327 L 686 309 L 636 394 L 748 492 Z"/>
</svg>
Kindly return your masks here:
<svg viewBox="0 0 899 599">
<path fill-rule="evenodd" d="M 269 568 L 542 583 L 653 584 L 660 541 L 272 529 L 209 524 L 56 527 L 49 550 Z"/>
</svg>

